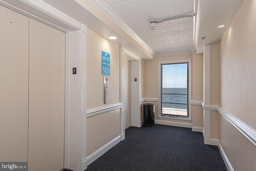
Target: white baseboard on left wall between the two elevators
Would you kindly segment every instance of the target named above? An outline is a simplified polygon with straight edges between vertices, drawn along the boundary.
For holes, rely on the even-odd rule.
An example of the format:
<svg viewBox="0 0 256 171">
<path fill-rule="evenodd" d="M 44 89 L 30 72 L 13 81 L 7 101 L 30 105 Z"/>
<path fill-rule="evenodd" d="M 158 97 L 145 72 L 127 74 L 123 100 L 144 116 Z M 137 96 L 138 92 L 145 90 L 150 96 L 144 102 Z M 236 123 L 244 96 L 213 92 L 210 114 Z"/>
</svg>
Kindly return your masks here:
<svg viewBox="0 0 256 171">
<path fill-rule="evenodd" d="M 83 163 L 86 163 L 86 167 L 87 167 L 92 162 L 94 162 L 96 159 L 98 159 L 100 156 L 102 156 L 104 153 L 106 153 L 109 149 L 114 147 L 120 141 L 121 141 L 121 135 L 119 135 L 118 137 L 116 137 L 115 139 L 113 139 L 112 141 L 110 141 L 109 143 L 107 143 L 106 145 L 104 145 L 103 147 L 101 147 L 100 149 L 98 149 L 97 151 L 95 151 L 94 153 L 89 155 L 88 157 L 86 157 L 83 160 Z"/>
</svg>

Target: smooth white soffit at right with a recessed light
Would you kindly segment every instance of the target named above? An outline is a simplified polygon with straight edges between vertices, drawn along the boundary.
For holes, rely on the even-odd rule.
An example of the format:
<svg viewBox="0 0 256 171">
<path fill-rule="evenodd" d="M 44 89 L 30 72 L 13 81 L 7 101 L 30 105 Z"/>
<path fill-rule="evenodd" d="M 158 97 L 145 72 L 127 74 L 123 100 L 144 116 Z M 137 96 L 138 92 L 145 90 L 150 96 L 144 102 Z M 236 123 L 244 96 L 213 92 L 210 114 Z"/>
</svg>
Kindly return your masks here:
<svg viewBox="0 0 256 171">
<path fill-rule="evenodd" d="M 243 2 L 244 0 L 202 1 L 198 44 L 196 45 L 197 54 L 204 52 L 205 45 L 218 44 L 220 42 Z M 217 28 L 216 26 L 219 24 L 226 24 L 226 26 Z"/>
</svg>

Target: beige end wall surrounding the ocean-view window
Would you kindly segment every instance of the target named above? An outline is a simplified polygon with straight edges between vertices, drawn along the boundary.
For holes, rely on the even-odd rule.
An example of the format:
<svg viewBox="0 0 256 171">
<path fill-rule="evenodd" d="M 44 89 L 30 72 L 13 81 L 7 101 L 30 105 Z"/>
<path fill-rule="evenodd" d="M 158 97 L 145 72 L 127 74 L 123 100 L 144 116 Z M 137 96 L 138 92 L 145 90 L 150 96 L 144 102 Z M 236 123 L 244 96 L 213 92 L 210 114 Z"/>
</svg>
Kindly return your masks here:
<svg viewBox="0 0 256 171">
<path fill-rule="evenodd" d="M 144 61 L 144 97 L 157 98 L 158 97 L 158 61 L 167 60 L 181 60 L 192 59 L 192 100 L 203 100 L 203 55 L 184 54 L 166 57 L 157 57 L 154 61 Z M 152 80 L 155 80 L 152 82 Z M 193 123 L 193 126 L 203 126 L 203 109 L 202 106 L 192 107 L 192 121 L 184 121 L 178 119 L 158 118 L 158 103 L 148 102 L 155 104 L 155 119 L 175 121 L 183 123 Z M 143 107 L 143 105 L 141 106 Z M 143 110 L 142 110 L 143 111 Z M 142 115 L 143 116 L 143 115 Z M 143 118 L 143 117 L 142 117 Z"/>
</svg>

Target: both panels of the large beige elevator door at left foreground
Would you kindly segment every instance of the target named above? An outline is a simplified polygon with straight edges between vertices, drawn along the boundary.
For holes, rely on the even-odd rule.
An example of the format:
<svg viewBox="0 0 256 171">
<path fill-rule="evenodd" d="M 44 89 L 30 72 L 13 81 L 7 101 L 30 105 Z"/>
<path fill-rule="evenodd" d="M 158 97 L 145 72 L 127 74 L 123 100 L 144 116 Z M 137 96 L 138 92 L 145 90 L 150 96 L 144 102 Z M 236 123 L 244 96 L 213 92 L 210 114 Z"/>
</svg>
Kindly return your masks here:
<svg viewBox="0 0 256 171">
<path fill-rule="evenodd" d="M 64 167 L 65 33 L 0 6 L 0 161 Z"/>
</svg>

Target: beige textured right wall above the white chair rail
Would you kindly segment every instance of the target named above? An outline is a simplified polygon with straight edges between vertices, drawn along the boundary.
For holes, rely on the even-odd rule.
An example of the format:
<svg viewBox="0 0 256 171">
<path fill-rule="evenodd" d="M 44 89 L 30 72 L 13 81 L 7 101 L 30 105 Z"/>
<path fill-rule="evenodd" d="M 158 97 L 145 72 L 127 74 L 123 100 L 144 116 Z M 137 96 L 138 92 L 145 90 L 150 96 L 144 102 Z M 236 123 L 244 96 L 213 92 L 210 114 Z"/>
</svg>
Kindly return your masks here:
<svg viewBox="0 0 256 171">
<path fill-rule="evenodd" d="M 244 0 L 219 44 L 220 106 L 256 129 L 256 1 Z"/>
</svg>

